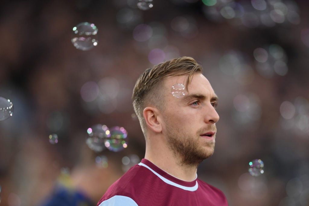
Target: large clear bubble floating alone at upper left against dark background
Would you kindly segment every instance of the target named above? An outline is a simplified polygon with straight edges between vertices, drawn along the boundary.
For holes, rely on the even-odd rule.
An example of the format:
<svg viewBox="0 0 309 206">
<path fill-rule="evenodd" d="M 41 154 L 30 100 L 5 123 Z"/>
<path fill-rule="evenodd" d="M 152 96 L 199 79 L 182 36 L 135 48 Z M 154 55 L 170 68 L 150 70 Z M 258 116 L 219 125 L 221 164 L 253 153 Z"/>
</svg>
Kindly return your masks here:
<svg viewBox="0 0 309 206">
<path fill-rule="evenodd" d="M 98 28 L 93 23 L 82 22 L 73 27 L 71 41 L 76 48 L 87 51 L 98 45 L 97 33 Z"/>
</svg>

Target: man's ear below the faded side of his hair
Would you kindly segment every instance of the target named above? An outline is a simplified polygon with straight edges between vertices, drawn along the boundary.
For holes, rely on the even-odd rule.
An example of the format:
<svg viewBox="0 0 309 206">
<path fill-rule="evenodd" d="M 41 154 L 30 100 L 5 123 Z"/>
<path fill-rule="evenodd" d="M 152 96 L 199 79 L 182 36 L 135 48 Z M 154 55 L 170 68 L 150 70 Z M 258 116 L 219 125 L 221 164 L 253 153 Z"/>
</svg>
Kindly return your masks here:
<svg viewBox="0 0 309 206">
<path fill-rule="evenodd" d="M 147 126 L 157 133 L 162 131 L 162 123 L 159 114 L 158 109 L 155 107 L 146 107 L 143 111 L 143 116 Z"/>
</svg>

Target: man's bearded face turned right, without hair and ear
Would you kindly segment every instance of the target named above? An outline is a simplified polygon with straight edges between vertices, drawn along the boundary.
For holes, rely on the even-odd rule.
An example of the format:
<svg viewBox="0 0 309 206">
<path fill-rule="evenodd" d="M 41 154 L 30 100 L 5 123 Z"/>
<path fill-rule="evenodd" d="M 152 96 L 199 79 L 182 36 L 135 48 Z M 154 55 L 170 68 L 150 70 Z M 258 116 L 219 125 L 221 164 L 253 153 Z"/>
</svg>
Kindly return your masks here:
<svg viewBox="0 0 309 206">
<path fill-rule="evenodd" d="M 197 166 L 214 153 L 215 110 L 218 98 L 204 75 L 194 74 L 185 95 L 172 95 L 172 86 L 183 84 L 188 75 L 174 76 L 164 81 L 163 134 L 179 163 Z"/>
</svg>

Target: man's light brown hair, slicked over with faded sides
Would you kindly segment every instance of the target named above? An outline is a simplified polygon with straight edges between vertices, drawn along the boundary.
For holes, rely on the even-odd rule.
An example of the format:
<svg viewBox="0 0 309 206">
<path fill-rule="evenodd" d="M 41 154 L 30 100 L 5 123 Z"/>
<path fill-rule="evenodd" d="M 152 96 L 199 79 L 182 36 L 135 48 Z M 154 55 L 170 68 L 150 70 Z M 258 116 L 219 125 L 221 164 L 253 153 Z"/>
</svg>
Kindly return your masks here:
<svg viewBox="0 0 309 206">
<path fill-rule="evenodd" d="M 202 66 L 192 57 L 180 57 L 171 59 L 145 70 L 138 78 L 133 89 L 133 107 L 142 131 L 146 137 L 146 122 L 143 117 L 145 107 L 151 105 L 159 109 L 164 109 L 161 90 L 162 82 L 165 78 L 178 75 L 188 75 L 185 85 L 188 91 L 188 85 L 191 83 L 195 73 L 202 73 Z"/>
</svg>

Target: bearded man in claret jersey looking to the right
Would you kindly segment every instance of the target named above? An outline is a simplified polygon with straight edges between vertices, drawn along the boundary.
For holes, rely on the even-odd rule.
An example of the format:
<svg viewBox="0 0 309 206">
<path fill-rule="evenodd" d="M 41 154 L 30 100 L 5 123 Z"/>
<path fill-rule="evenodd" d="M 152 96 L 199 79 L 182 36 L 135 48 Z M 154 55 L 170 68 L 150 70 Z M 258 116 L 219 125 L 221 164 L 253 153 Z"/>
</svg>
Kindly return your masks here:
<svg viewBox="0 0 309 206">
<path fill-rule="evenodd" d="M 201 65 L 191 57 L 146 69 L 133 90 L 145 158 L 97 205 L 226 206 L 222 191 L 197 179 L 197 166 L 214 152 L 217 102 Z"/>
</svg>

